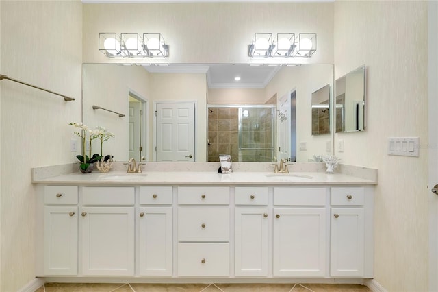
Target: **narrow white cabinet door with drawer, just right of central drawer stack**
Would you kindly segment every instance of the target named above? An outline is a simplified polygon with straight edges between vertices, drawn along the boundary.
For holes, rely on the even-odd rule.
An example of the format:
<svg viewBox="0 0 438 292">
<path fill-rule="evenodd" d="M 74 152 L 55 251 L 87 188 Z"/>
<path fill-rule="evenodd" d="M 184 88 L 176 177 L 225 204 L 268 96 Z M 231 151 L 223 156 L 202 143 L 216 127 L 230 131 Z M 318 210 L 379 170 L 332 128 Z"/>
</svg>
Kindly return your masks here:
<svg viewBox="0 0 438 292">
<path fill-rule="evenodd" d="M 235 276 L 268 276 L 268 187 L 235 188 Z"/>
</svg>

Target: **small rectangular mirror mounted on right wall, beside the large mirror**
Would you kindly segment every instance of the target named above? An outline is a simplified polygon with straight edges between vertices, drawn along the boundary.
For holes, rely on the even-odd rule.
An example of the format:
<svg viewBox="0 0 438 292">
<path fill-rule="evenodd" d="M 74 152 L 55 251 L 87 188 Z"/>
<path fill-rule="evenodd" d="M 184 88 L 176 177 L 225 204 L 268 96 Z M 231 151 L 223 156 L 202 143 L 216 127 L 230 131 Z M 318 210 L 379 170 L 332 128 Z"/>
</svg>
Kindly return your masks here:
<svg viewBox="0 0 438 292">
<path fill-rule="evenodd" d="M 336 80 L 336 132 L 365 130 L 365 66 Z"/>
</svg>

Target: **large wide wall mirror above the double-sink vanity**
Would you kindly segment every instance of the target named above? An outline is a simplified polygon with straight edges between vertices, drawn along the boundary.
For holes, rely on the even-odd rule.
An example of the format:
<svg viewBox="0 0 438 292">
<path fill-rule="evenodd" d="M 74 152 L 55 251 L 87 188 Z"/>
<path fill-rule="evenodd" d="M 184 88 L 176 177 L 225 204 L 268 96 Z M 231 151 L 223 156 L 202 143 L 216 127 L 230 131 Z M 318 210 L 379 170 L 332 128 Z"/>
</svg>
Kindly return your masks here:
<svg viewBox="0 0 438 292">
<path fill-rule="evenodd" d="M 241 79 L 236 81 L 235 77 Z M 287 158 L 309 162 L 314 155 L 331 155 L 333 150 L 334 131 L 332 135 L 312 134 L 312 93 L 327 84 L 333 87 L 333 64 L 83 64 L 83 123 L 114 133 L 115 137 L 103 144 L 103 152 L 113 155 L 116 161 L 130 157 L 140 160 L 144 156 L 146 161 L 206 162 L 212 153 L 209 145 L 221 144 L 221 135 L 235 135 L 231 120 L 225 121 L 229 117 L 223 116 L 222 121 L 222 115 L 217 116 L 216 125 L 223 132 L 217 130 L 212 141 L 209 131 L 214 128 L 209 112 L 214 117 L 238 105 L 237 114 L 253 127 L 253 132 L 242 136 L 257 138 L 258 142 L 263 138 L 263 148 L 271 153 L 270 161 Z M 245 111 L 251 107 L 257 110 Z M 253 120 L 255 114 L 263 112 L 259 108 L 271 109 L 269 135 L 260 126 L 261 119 Z M 183 119 L 188 121 L 181 122 Z M 266 136 L 270 136 L 271 145 Z M 250 148 L 251 143 L 242 145 Z M 216 146 L 218 152 L 227 151 Z M 253 152 L 254 161 L 259 161 L 257 155 L 267 156 L 266 149 Z"/>
</svg>

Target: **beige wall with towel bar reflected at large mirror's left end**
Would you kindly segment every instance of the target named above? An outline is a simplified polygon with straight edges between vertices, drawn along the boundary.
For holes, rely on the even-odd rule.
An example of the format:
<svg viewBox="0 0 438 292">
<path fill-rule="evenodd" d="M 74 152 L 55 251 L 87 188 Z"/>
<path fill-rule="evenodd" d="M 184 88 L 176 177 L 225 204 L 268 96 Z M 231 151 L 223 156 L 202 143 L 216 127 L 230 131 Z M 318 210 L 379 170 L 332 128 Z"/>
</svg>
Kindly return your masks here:
<svg viewBox="0 0 438 292">
<path fill-rule="evenodd" d="M 84 64 L 83 66 L 83 123 L 91 128 L 105 127 L 114 138 L 103 143 L 103 155 L 112 154 L 116 161 L 127 161 L 129 121 L 128 93 L 135 93 L 149 101 L 149 73 L 142 66 L 118 66 L 116 64 Z M 92 106 L 105 110 L 93 110 Z M 148 113 L 150 115 L 151 112 Z M 79 139 L 78 139 L 79 142 Z M 94 141 L 92 152 L 100 153 L 99 141 Z M 148 156 L 150 157 L 150 156 Z"/>
</svg>

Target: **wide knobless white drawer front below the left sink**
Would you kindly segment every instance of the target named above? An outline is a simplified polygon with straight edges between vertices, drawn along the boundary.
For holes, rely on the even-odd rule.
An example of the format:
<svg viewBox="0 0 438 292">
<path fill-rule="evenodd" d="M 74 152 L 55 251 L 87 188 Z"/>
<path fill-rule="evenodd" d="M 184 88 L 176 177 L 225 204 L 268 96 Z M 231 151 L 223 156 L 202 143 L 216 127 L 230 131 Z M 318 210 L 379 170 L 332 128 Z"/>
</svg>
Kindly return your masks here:
<svg viewBox="0 0 438 292">
<path fill-rule="evenodd" d="M 133 187 L 85 187 L 82 189 L 83 205 L 133 205 Z"/>
</svg>

